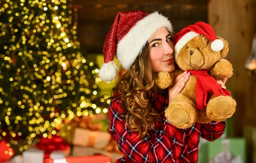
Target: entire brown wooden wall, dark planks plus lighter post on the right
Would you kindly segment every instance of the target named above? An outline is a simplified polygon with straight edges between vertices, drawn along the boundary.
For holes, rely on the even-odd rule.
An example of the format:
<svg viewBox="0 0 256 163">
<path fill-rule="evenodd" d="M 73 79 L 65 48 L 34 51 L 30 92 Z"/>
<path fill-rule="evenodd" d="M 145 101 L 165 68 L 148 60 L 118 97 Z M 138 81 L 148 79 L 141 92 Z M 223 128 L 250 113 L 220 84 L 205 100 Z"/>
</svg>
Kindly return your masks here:
<svg viewBox="0 0 256 163">
<path fill-rule="evenodd" d="M 175 32 L 197 21 L 212 25 L 217 35 L 230 43 L 227 60 L 234 75 L 227 87 L 234 90 L 237 110 L 233 116 L 234 136 L 244 126 L 256 126 L 256 76 L 248 75 L 244 63 L 250 54 L 255 31 L 256 0 L 73 0 L 78 9 L 78 39 L 88 54 L 102 53 L 105 37 L 119 11 L 160 11 L 169 17 Z"/>
</svg>

